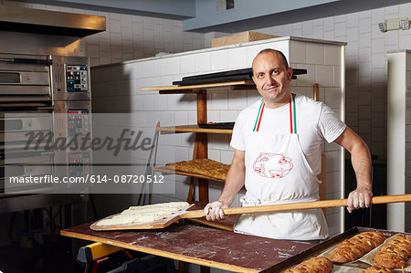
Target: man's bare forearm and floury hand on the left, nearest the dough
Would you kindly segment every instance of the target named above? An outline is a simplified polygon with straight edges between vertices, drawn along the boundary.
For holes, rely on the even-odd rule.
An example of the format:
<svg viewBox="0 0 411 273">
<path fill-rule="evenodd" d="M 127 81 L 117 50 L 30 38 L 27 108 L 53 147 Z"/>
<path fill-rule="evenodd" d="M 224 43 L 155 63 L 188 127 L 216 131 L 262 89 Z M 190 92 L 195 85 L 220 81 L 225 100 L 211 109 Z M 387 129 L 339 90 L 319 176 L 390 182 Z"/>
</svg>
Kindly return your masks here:
<svg viewBox="0 0 411 273">
<path fill-rule="evenodd" d="M 244 185 L 246 178 L 245 153 L 246 152 L 237 149 L 234 152 L 233 162 L 228 170 L 223 192 L 218 198 L 218 201 L 205 206 L 207 220 L 224 219 L 225 215 L 221 208 L 229 207 Z"/>
</svg>

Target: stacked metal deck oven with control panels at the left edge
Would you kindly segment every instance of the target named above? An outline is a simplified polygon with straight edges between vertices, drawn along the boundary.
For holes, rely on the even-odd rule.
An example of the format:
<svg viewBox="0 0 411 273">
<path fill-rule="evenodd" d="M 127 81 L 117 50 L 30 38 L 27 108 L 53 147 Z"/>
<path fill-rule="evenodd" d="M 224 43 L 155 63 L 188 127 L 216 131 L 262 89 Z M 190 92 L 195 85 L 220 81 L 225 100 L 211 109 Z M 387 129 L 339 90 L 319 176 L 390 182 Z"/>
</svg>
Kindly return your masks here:
<svg viewBox="0 0 411 273">
<path fill-rule="evenodd" d="M 90 136 L 90 94 L 87 57 L 0 53 L 0 213 L 7 212 L 11 197 L 68 187 L 7 183 L 11 177 L 23 181 L 92 172 L 90 150 L 56 149 L 61 140 Z"/>
</svg>

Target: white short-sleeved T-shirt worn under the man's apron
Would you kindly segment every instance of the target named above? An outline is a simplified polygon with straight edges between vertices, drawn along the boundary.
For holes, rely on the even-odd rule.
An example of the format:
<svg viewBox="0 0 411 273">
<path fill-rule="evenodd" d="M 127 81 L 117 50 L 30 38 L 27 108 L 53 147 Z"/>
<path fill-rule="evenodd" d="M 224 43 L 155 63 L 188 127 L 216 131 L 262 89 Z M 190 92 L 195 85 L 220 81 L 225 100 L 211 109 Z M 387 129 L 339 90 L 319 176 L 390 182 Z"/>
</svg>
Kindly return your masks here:
<svg viewBox="0 0 411 273">
<path fill-rule="evenodd" d="M 335 141 L 346 125 L 331 108 L 321 101 L 296 95 L 296 124 L 302 152 L 315 174 L 321 173 L 321 143 Z M 230 145 L 241 151 L 246 150 L 245 140 L 253 131 L 261 100 L 242 110 L 234 125 Z M 277 109 L 264 108 L 259 130 L 272 134 L 290 133 L 290 105 Z"/>
</svg>

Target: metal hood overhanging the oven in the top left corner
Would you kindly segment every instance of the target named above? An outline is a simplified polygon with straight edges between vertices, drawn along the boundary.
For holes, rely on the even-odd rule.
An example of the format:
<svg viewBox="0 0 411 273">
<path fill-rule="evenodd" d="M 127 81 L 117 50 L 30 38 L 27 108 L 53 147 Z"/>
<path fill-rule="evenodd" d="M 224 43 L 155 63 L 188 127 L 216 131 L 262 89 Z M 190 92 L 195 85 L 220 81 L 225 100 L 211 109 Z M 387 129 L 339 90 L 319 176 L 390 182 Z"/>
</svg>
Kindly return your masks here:
<svg viewBox="0 0 411 273">
<path fill-rule="evenodd" d="M 86 37 L 106 30 L 106 17 L 0 5 L 0 30 Z"/>
</svg>

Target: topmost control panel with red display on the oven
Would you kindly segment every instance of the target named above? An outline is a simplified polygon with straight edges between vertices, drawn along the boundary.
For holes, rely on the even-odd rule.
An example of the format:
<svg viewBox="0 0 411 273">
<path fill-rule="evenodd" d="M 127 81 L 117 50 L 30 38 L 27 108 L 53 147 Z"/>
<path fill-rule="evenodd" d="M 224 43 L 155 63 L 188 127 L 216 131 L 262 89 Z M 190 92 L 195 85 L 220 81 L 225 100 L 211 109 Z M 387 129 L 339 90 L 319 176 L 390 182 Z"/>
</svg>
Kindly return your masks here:
<svg viewBox="0 0 411 273">
<path fill-rule="evenodd" d="M 66 66 L 66 85 L 68 92 L 87 92 L 89 90 L 87 66 Z"/>
</svg>

